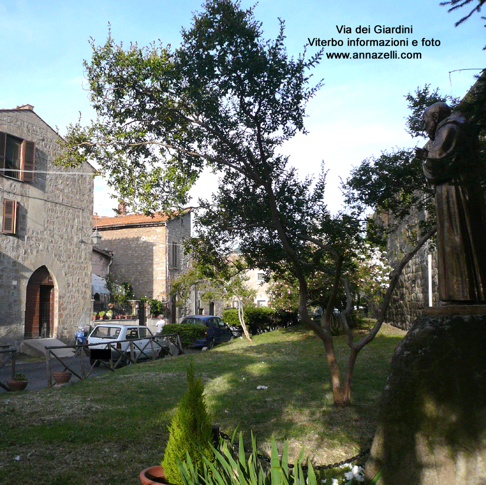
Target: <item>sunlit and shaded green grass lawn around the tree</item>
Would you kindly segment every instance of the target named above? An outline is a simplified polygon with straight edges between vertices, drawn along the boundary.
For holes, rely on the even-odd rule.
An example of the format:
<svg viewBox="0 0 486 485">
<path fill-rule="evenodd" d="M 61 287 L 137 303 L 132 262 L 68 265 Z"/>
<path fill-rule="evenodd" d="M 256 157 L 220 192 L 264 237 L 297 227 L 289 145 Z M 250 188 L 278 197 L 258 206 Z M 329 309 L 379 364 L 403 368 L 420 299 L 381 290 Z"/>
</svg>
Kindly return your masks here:
<svg viewBox="0 0 486 485">
<path fill-rule="evenodd" d="M 298 325 L 237 339 L 209 352 L 143 363 L 60 389 L 0 396 L 0 483 L 124 485 L 158 465 L 193 359 L 214 424 L 250 430 L 268 454 L 272 433 L 291 455 L 305 447 L 317 465 L 368 448 L 391 356 L 405 332 L 383 325 L 358 356 L 353 402 L 332 405 L 322 342 Z M 335 339 L 342 367 L 345 337 Z M 257 386 L 268 389 L 257 390 Z M 15 457 L 19 456 L 17 461 Z"/>
</svg>

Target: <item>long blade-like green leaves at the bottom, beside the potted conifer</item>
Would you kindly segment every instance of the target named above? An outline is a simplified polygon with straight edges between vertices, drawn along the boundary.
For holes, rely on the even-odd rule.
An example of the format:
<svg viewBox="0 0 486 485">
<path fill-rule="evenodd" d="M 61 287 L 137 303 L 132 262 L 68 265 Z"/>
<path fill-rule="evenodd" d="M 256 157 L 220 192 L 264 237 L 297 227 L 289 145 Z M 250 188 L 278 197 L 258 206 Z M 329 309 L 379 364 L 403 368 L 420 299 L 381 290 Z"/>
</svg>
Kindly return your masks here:
<svg viewBox="0 0 486 485">
<path fill-rule="evenodd" d="M 296 476 L 294 477 L 289 473 L 288 441 L 285 442 L 282 460 L 280 461 L 275 438 L 272 436 L 269 470 L 264 469 L 258 460 L 257 443 L 253 433 L 251 442 L 252 452 L 248 460 L 245 458 L 243 436 L 240 433 L 238 452 L 235 452 L 232 446 L 228 447 L 225 443 L 221 453 L 212 448 L 215 455 L 214 463 L 211 463 L 204 455 L 202 467 L 193 463 L 189 457 L 186 463 L 179 462 L 184 485 L 293 485 L 294 483 L 317 485 L 317 479 L 310 461 L 307 476 L 304 475 L 301 465 L 303 452 L 295 463 Z"/>
</svg>

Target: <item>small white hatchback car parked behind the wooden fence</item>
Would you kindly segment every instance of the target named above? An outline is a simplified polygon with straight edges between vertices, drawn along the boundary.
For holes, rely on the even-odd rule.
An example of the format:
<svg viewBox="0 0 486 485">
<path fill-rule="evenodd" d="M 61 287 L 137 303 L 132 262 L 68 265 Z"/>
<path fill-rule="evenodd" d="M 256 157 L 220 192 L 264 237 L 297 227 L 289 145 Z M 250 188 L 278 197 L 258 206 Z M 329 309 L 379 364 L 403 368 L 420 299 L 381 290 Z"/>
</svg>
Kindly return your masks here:
<svg viewBox="0 0 486 485">
<path fill-rule="evenodd" d="M 91 365 L 99 366 L 101 361 L 116 363 L 120 357 L 119 366 L 129 365 L 132 361 L 130 356 L 130 342 L 134 343 L 133 351 L 135 360 L 141 361 L 152 358 L 152 345 L 150 337 L 154 334 L 148 327 L 123 324 L 123 323 L 102 323 L 96 325 L 87 337 L 87 344 L 99 344 L 85 348 Z M 126 340 L 126 341 L 125 341 Z M 157 339 L 162 345 L 154 343 L 154 358 L 158 359 L 169 354 L 169 347 L 165 339 Z M 142 353 L 143 351 L 143 353 Z"/>
</svg>

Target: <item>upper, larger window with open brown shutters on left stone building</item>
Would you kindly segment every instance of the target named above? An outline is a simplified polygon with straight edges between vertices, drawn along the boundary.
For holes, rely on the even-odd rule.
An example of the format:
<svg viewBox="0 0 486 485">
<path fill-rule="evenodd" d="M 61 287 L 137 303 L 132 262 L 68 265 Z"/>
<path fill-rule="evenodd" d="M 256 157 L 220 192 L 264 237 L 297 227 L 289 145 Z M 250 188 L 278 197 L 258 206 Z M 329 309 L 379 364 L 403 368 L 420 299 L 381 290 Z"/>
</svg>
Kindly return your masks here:
<svg viewBox="0 0 486 485">
<path fill-rule="evenodd" d="M 34 181 L 35 142 L 0 131 L 0 175 Z"/>
</svg>

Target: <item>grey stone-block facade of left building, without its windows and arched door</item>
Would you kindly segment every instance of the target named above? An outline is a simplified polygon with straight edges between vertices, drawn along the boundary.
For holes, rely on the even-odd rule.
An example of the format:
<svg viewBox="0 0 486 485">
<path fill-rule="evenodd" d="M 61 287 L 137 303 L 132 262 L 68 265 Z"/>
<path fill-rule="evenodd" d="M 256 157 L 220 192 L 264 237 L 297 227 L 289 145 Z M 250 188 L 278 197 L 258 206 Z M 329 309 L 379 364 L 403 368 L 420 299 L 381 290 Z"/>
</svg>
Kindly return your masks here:
<svg viewBox="0 0 486 485">
<path fill-rule="evenodd" d="M 0 174 L 0 211 L 3 199 L 19 204 L 17 234 L 0 236 L 0 343 L 19 348 L 27 283 L 40 266 L 46 266 L 54 280 L 54 336 L 69 342 L 92 312 L 91 245 L 87 242 L 94 170 L 88 164 L 79 168 L 54 165 L 58 136 L 29 109 L 0 110 L 0 131 L 36 143 L 34 182 Z"/>
</svg>

